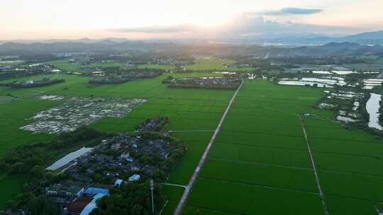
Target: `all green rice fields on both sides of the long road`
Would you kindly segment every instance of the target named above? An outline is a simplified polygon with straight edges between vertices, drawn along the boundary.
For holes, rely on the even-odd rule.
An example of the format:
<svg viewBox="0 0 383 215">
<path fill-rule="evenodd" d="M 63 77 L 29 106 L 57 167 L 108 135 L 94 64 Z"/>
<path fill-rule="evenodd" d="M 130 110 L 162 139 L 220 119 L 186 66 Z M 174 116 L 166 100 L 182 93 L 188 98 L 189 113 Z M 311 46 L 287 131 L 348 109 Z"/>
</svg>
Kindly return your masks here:
<svg viewBox="0 0 383 215">
<path fill-rule="evenodd" d="M 170 117 L 168 129 L 187 143 L 188 151 L 170 173 L 169 183 L 187 185 L 216 129 L 233 91 L 167 88 L 156 79 L 119 85 L 89 87 L 87 77 L 34 76 L 65 79 L 65 83 L 31 90 L 0 88 L 0 96 L 16 100 L 0 105 L 0 157 L 15 146 L 48 141 L 52 135 L 32 134 L 18 127 L 40 110 L 60 102 L 39 100 L 48 95 L 146 98 L 123 118 L 104 118 L 92 127 L 107 132 L 132 131 L 145 118 Z M 206 73 L 172 74 L 206 76 Z M 323 214 L 299 114 L 333 118 L 331 112 L 311 108 L 323 95 L 321 89 L 276 86 L 269 81 L 245 81 L 233 103 L 209 158 L 199 175 L 184 214 Z M 304 125 L 318 168 L 330 214 L 374 214 L 374 202 L 383 202 L 382 141 L 340 124 L 304 117 Z M 204 130 L 204 131 L 201 131 Z M 183 131 L 183 132 L 182 132 Z M 15 197 L 26 177 L 0 173 L 0 207 Z M 184 189 L 163 186 L 172 214 Z"/>
</svg>

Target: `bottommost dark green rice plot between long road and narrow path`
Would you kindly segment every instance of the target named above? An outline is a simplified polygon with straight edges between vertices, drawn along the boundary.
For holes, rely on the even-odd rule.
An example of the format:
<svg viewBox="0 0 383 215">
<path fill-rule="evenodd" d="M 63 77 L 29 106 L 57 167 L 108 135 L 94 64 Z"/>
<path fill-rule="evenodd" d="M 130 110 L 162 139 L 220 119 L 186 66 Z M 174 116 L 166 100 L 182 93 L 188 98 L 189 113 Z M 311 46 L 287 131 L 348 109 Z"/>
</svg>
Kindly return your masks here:
<svg viewBox="0 0 383 215">
<path fill-rule="evenodd" d="M 190 214 L 199 209 L 223 214 L 323 214 L 316 193 L 206 178 L 199 178 L 194 185 L 188 207 L 193 209 Z"/>
</svg>

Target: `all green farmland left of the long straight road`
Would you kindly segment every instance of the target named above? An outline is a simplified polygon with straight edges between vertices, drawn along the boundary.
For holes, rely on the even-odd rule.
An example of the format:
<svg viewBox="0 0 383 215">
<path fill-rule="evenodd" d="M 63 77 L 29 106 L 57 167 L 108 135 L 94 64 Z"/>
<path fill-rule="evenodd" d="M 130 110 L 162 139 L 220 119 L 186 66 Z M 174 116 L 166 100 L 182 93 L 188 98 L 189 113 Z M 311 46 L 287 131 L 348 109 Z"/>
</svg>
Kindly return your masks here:
<svg viewBox="0 0 383 215">
<path fill-rule="evenodd" d="M 194 74 L 172 74 L 175 77 L 182 76 L 206 76 L 204 73 Z M 124 97 L 145 98 L 147 103 L 135 108 L 129 115 L 123 118 L 104 118 L 92 127 L 108 132 L 129 132 L 146 118 L 166 116 L 170 117 L 169 129 L 174 131 L 201 130 L 204 132 L 174 132 L 174 135 L 187 143 L 188 151 L 177 168 L 170 173 L 169 182 L 185 185 L 193 173 L 196 163 L 199 162 L 206 144 L 221 118 L 223 111 L 230 100 L 233 91 L 206 91 L 190 89 L 167 88 L 161 81 L 167 77 L 166 74 L 155 79 L 131 81 L 118 85 L 105 85 L 89 87 L 87 77 L 76 75 L 54 74 L 48 76 L 33 76 L 26 79 L 65 79 L 65 83 L 30 89 L 0 88 L 0 95 L 18 96 L 18 100 L 0 105 L 1 123 L 5 129 L 1 129 L 0 156 L 21 144 L 33 141 L 48 141 L 53 136 L 48 134 L 33 134 L 23 131 L 19 127 L 30 123 L 30 117 L 35 112 L 52 108 L 60 102 L 39 100 L 33 95 L 43 93 L 48 95 L 72 95 L 72 96 L 101 96 L 101 97 Z M 20 80 L 20 79 L 19 79 Z M 13 80 L 8 80 L 13 81 Z M 6 82 L 8 82 L 6 81 Z M 16 180 L 16 179 L 17 180 Z M 7 189 L 0 199 L 0 207 L 15 197 L 17 190 L 21 189 L 23 180 L 19 176 L 8 176 L 0 174 L 0 188 Z M 165 208 L 167 214 L 177 206 L 178 199 L 183 192 L 182 188 L 164 186 L 169 203 Z M 179 190 L 181 189 L 181 190 Z"/>
</svg>

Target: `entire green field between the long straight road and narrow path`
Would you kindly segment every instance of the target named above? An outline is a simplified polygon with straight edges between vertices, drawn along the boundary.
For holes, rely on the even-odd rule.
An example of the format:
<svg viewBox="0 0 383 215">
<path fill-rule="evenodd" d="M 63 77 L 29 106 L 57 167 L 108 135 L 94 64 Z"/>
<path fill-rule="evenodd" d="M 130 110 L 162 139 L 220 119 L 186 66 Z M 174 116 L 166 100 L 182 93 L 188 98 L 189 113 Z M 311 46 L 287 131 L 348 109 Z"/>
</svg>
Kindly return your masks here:
<svg viewBox="0 0 383 215">
<path fill-rule="evenodd" d="M 246 81 L 184 214 L 323 214 L 299 122 L 322 93 Z"/>
</svg>

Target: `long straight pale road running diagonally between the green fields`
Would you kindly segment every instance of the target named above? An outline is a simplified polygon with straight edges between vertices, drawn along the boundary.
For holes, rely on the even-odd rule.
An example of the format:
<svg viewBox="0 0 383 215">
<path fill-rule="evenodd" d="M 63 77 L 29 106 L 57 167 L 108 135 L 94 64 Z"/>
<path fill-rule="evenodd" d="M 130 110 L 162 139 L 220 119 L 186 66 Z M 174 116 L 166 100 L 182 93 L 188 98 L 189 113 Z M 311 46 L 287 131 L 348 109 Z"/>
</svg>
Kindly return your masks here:
<svg viewBox="0 0 383 215">
<path fill-rule="evenodd" d="M 199 163 L 198 163 L 196 169 L 194 170 L 193 175 L 191 175 L 190 181 L 189 181 L 189 183 L 187 185 L 187 188 L 184 191 L 184 194 L 182 194 L 182 197 L 179 200 L 179 204 L 177 205 L 177 208 L 174 211 L 174 215 L 181 215 L 182 214 L 182 209 L 184 208 L 184 205 L 187 202 L 187 198 L 189 197 L 191 188 L 193 187 L 194 182 L 196 181 L 196 178 L 198 177 L 199 172 L 200 172 L 202 166 L 204 165 L 204 163 L 206 161 L 206 158 L 207 158 L 207 156 L 209 154 L 211 146 L 213 145 L 213 142 L 216 140 L 216 136 L 221 131 L 221 126 L 223 124 L 223 121 L 225 121 L 226 115 L 228 115 L 228 111 L 230 110 L 231 105 L 233 105 L 234 100 L 237 97 L 238 92 L 240 91 L 240 88 L 242 88 L 242 86 L 243 86 L 243 80 L 241 81 L 240 86 L 238 86 L 237 91 L 235 91 L 233 97 L 231 98 L 230 102 L 228 103 L 228 107 L 226 108 L 225 112 L 223 112 L 223 115 L 221 117 L 221 120 L 218 123 L 218 126 L 217 126 L 216 130 L 215 130 L 213 136 L 211 136 L 209 144 L 207 145 L 207 147 L 206 147 L 206 149 L 204 151 L 204 154 L 201 157 L 201 160 L 199 160 Z"/>
</svg>

